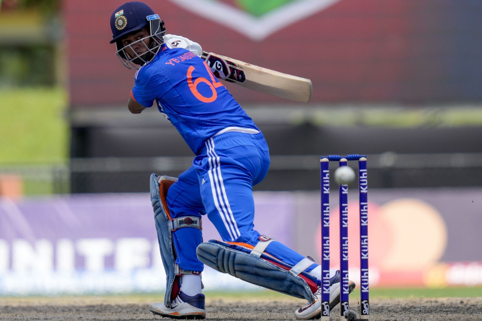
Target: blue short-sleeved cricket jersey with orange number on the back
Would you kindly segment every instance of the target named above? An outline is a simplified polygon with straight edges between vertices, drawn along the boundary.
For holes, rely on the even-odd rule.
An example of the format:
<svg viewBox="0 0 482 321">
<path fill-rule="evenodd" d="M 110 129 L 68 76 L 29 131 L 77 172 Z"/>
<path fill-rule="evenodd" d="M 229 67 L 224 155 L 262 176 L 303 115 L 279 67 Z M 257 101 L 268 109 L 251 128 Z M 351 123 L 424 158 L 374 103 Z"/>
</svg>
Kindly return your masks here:
<svg viewBox="0 0 482 321">
<path fill-rule="evenodd" d="M 186 49 L 163 44 L 153 60 L 137 71 L 132 97 L 146 107 L 156 100 L 159 111 L 196 155 L 204 141 L 224 128 L 259 130 L 208 65 Z"/>
</svg>

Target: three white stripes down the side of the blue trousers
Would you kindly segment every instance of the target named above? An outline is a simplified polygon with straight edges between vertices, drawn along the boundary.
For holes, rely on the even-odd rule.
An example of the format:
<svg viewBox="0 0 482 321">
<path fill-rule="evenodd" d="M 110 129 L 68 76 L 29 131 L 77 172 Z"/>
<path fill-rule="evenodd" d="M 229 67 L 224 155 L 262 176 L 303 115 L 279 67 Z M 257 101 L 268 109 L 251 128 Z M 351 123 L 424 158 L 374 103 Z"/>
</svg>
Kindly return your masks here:
<svg viewBox="0 0 482 321">
<path fill-rule="evenodd" d="M 231 211 L 231 206 L 228 202 L 228 196 L 224 187 L 223 177 L 221 176 L 221 164 L 219 162 L 219 156 L 214 152 L 214 140 L 211 138 L 209 141 L 206 142 L 206 146 L 207 154 L 208 156 L 210 156 L 208 158 L 208 174 L 211 180 L 211 190 L 213 193 L 214 204 L 216 205 L 216 209 L 218 210 L 219 215 L 223 219 L 226 230 L 228 230 L 229 236 L 231 237 L 231 241 L 233 241 L 234 239 L 238 238 L 241 233 L 238 229 L 238 225 L 236 224 L 236 220 L 234 219 Z M 217 200 L 217 196 L 219 196 L 219 203 Z"/>
</svg>

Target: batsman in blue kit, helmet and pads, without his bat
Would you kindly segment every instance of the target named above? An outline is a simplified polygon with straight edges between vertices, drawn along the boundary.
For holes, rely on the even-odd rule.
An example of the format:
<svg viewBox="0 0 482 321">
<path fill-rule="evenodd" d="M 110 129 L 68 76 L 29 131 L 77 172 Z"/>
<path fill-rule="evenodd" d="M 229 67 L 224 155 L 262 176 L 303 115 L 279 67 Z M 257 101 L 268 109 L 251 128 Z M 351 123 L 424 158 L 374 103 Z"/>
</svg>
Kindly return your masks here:
<svg viewBox="0 0 482 321">
<path fill-rule="evenodd" d="M 151 201 L 166 271 L 164 302 L 150 311 L 204 319 L 203 264 L 308 303 L 296 319 L 321 315 L 321 266 L 254 230 L 253 186 L 269 167 L 263 133 L 199 57 L 201 46 L 166 35 L 159 15 L 127 2 L 110 17 L 116 55 L 136 69 L 129 111 L 156 104 L 196 155 L 179 178 L 151 175 Z M 222 240 L 202 242 L 201 218 Z M 262 213 L 261 213 L 262 215 Z M 260 227 L 262 228 L 262 227 Z M 330 309 L 339 303 L 340 273 L 330 270 Z M 355 283 L 349 282 L 350 292 Z"/>
</svg>

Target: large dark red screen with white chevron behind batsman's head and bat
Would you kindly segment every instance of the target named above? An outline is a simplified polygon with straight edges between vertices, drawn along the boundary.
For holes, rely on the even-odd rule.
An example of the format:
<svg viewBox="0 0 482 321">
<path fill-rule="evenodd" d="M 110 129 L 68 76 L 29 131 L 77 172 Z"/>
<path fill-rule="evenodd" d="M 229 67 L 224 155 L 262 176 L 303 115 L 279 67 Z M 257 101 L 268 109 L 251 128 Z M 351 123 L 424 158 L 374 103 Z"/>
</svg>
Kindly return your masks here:
<svg viewBox="0 0 482 321">
<path fill-rule="evenodd" d="M 474 45 L 482 20 L 468 10 L 469 2 L 146 2 L 168 33 L 199 42 L 204 50 L 310 78 L 313 103 L 482 99 L 482 48 Z M 134 72 L 119 63 L 109 44 L 109 17 L 119 4 L 65 1 L 74 107 L 119 105 L 128 98 Z M 240 103 L 291 103 L 227 87 Z"/>
</svg>

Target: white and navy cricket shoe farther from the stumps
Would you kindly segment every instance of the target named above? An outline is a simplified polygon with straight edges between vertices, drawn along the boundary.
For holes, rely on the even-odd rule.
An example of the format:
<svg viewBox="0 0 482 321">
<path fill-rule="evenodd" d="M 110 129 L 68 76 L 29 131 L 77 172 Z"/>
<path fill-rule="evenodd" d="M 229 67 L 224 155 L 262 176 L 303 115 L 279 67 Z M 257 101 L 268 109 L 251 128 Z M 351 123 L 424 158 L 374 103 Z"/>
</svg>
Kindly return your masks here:
<svg viewBox="0 0 482 321">
<path fill-rule="evenodd" d="M 179 291 L 176 298 L 171 301 L 171 308 L 167 308 L 164 303 L 153 303 L 149 310 L 153 314 L 171 319 L 204 319 L 206 310 L 204 309 L 204 295 L 186 295 Z"/>
</svg>

